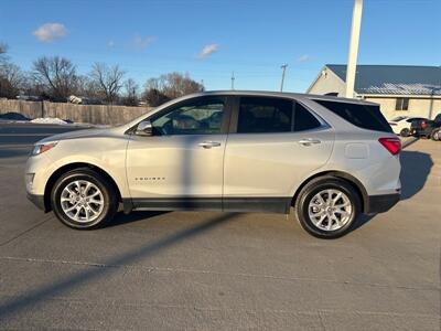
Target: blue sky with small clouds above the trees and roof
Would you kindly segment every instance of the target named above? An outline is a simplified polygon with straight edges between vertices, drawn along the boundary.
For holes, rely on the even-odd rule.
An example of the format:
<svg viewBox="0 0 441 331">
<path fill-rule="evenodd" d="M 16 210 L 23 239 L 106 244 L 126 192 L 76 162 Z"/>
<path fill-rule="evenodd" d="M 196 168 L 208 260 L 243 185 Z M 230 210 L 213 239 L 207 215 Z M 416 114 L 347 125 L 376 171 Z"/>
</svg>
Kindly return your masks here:
<svg viewBox="0 0 441 331">
<path fill-rule="evenodd" d="M 24 70 L 41 55 L 119 64 L 140 85 L 186 72 L 207 89 L 304 92 L 345 63 L 353 0 L 6 1 L 0 41 Z M 441 65 L 441 0 L 365 0 L 358 63 Z M 54 24 L 55 23 L 55 24 Z M 45 25 L 46 24 L 46 25 Z M 205 52 L 204 52 L 205 49 Z"/>
</svg>

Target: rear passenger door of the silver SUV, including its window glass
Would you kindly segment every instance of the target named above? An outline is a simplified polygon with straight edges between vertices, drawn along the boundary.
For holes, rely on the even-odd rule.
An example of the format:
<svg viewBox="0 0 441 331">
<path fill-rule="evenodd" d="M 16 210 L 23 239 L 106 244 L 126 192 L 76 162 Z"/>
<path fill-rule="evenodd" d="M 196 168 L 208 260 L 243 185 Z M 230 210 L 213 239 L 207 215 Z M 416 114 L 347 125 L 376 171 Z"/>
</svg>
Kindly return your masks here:
<svg viewBox="0 0 441 331">
<path fill-rule="evenodd" d="M 224 161 L 224 210 L 287 212 L 294 190 L 324 166 L 333 130 L 300 103 L 240 97 Z"/>
</svg>

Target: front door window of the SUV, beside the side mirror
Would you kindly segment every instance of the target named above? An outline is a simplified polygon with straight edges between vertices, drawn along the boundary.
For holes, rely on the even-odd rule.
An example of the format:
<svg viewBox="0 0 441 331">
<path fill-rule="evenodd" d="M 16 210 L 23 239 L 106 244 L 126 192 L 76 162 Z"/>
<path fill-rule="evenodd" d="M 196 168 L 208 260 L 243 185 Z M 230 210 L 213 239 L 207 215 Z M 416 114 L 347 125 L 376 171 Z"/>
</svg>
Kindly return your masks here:
<svg viewBox="0 0 441 331">
<path fill-rule="evenodd" d="M 152 120 L 154 136 L 216 135 L 222 132 L 223 99 L 205 99 L 179 106 Z"/>
</svg>

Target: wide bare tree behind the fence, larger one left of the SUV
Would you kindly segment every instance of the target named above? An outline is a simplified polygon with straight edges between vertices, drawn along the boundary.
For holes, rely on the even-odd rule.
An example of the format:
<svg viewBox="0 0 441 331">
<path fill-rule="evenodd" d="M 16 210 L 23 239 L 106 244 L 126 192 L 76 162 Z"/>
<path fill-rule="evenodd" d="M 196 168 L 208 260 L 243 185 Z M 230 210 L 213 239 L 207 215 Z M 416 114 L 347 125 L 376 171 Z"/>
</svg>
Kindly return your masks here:
<svg viewBox="0 0 441 331">
<path fill-rule="evenodd" d="M 76 67 L 65 57 L 40 57 L 34 62 L 33 72 L 35 84 L 51 99 L 65 102 L 76 88 Z"/>
</svg>

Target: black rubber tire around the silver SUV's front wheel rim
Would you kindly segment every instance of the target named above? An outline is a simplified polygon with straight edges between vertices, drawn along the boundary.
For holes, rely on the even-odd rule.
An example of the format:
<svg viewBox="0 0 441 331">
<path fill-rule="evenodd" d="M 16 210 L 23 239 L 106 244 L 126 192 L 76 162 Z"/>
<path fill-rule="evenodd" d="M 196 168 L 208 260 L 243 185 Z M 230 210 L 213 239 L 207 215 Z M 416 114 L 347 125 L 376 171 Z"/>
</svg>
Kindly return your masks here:
<svg viewBox="0 0 441 331">
<path fill-rule="evenodd" d="M 98 216 L 90 222 L 77 222 L 71 218 L 62 207 L 61 196 L 63 190 L 75 181 L 87 181 L 96 185 L 103 196 L 103 210 Z M 55 182 L 51 192 L 51 204 L 56 217 L 65 225 L 76 229 L 94 229 L 104 226 L 114 218 L 118 211 L 118 195 L 111 183 L 100 173 L 89 169 L 79 168 L 63 174 Z"/>
</svg>

